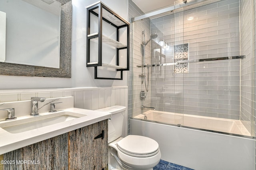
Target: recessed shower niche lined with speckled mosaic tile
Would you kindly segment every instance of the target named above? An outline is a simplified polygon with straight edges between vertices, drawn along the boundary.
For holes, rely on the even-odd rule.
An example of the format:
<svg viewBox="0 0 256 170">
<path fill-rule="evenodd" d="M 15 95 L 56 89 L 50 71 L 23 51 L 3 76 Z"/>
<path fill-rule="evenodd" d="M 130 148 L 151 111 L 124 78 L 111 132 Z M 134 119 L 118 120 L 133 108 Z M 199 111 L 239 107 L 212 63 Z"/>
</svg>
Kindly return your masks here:
<svg viewBox="0 0 256 170">
<path fill-rule="evenodd" d="M 174 63 L 188 60 L 188 43 L 174 45 Z M 188 73 L 188 63 L 174 65 L 174 73 Z"/>
</svg>

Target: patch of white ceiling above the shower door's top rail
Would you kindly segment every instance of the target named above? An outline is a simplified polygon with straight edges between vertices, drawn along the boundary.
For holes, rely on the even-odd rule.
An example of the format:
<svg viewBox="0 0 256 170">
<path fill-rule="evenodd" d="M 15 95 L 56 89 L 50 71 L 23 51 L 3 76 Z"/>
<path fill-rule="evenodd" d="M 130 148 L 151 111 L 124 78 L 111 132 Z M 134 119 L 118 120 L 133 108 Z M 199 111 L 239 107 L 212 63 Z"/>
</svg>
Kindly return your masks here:
<svg viewBox="0 0 256 170">
<path fill-rule="evenodd" d="M 144 13 L 174 5 L 176 0 L 132 0 Z"/>
</svg>

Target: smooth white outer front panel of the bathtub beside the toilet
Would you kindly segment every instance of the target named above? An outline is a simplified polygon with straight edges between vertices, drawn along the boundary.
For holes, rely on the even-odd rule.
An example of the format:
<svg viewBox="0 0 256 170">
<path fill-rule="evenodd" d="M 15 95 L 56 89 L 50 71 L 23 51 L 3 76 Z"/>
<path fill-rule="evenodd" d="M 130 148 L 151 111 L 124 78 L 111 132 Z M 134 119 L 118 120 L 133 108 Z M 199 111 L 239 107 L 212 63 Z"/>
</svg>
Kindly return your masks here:
<svg viewBox="0 0 256 170">
<path fill-rule="evenodd" d="M 130 119 L 130 134 L 154 139 L 162 160 L 195 170 L 255 170 L 255 139 L 137 119 Z"/>
</svg>

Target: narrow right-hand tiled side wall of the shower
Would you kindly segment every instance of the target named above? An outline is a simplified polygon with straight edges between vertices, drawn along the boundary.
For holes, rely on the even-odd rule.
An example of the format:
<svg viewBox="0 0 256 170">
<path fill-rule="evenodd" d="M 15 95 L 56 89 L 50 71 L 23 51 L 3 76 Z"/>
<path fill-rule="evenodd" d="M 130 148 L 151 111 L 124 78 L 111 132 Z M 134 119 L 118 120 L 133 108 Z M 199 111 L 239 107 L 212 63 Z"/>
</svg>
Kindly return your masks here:
<svg viewBox="0 0 256 170">
<path fill-rule="evenodd" d="M 252 70 L 253 51 L 251 34 L 251 4 L 248 0 L 240 0 L 240 34 L 241 53 L 246 55 L 246 59 L 241 61 L 241 121 L 250 132 L 252 121 Z M 253 132 L 251 132 L 253 134 Z"/>
</svg>

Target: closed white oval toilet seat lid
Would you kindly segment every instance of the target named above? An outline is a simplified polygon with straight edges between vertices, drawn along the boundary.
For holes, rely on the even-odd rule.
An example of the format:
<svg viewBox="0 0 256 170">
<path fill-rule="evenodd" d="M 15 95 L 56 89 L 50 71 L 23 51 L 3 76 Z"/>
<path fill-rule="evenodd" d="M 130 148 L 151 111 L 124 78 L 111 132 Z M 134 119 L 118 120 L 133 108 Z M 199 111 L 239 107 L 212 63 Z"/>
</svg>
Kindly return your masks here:
<svg viewBox="0 0 256 170">
<path fill-rule="evenodd" d="M 117 142 L 117 147 L 121 152 L 138 157 L 152 156 L 159 152 L 159 145 L 155 140 L 138 135 L 128 135 Z"/>
</svg>

